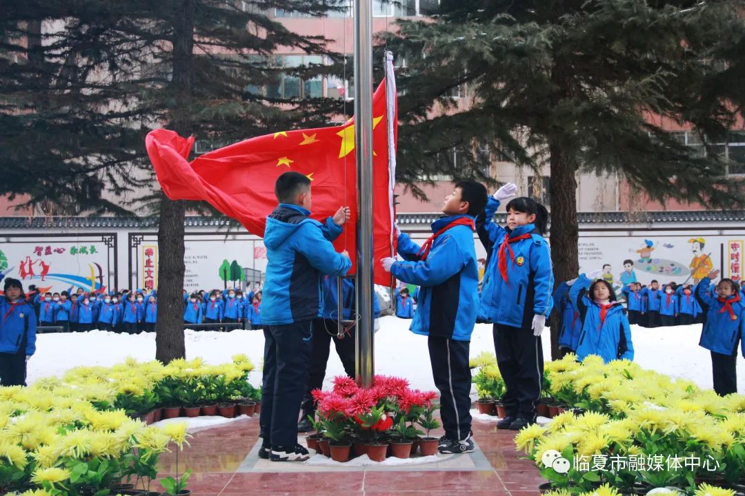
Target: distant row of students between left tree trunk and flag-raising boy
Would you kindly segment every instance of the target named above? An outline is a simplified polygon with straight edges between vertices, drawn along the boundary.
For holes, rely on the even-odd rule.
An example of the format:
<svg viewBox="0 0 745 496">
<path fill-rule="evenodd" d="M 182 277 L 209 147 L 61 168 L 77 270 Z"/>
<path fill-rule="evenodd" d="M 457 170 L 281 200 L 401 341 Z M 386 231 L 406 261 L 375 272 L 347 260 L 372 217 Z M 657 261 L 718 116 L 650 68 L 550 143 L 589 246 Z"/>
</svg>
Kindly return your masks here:
<svg viewBox="0 0 745 496">
<path fill-rule="evenodd" d="M 218 289 L 202 297 L 199 292 L 184 292 L 184 323 L 241 323 L 247 329 L 261 329 L 262 292 L 251 293 L 252 300 L 244 298 L 241 290 Z"/>
</svg>

